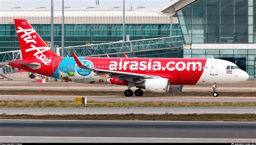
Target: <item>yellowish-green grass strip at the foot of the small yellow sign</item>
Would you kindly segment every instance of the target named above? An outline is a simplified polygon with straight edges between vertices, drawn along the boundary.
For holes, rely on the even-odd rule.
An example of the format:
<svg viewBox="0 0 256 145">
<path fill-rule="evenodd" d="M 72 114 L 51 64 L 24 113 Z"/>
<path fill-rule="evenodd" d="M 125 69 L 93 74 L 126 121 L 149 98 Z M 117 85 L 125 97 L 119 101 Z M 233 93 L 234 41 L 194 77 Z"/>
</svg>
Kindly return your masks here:
<svg viewBox="0 0 256 145">
<path fill-rule="evenodd" d="M 76 104 L 66 101 L 1 101 L 0 107 L 255 107 L 255 102 L 87 102 Z"/>
</svg>

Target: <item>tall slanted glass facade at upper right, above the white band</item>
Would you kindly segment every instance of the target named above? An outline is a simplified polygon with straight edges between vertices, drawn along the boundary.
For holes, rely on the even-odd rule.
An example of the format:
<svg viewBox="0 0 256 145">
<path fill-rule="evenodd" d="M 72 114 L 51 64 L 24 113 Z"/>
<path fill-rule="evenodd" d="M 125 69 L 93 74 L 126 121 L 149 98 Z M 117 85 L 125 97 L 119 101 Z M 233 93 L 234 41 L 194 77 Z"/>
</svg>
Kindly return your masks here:
<svg viewBox="0 0 256 145">
<path fill-rule="evenodd" d="M 177 12 L 185 44 L 256 43 L 256 1 L 198 0 Z"/>
</svg>

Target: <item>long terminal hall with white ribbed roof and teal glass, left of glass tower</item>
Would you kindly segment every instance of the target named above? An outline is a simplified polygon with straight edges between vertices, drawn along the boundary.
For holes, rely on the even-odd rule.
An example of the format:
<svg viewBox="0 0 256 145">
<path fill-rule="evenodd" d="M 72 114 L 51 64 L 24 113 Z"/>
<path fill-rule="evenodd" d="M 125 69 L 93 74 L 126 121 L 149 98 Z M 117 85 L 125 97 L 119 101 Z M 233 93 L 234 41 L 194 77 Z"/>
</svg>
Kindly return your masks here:
<svg viewBox="0 0 256 145">
<path fill-rule="evenodd" d="M 169 16 L 156 11 L 126 11 L 125 34 L 130 40 L 169 37 Z M 102 44 L 123 40 L 122 10 L 65 10 L 65 46 Z M 14 18 L 25 18 L 45 41 L 51 41 L 50 10 L 0 11 L 0 51 L 17 50 Z M 54 12 L 54 45 L 61 46 L 62 11 Z M 173 18 L 172 35 L 182 35 L 178 19 Z"/>
</svg>

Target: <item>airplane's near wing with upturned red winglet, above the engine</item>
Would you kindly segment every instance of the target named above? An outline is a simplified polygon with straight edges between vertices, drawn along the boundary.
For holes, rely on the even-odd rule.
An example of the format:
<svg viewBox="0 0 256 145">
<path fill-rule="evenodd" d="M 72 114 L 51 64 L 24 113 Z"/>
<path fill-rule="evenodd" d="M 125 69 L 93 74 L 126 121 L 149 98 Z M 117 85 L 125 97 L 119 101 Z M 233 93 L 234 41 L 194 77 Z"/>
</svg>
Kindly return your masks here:
<svg viewBox="0 0 256 145">
<path fill-rule="evenodd" d="M 113 70 L 104 70 L 104 69 L 92 69 L 92 68 L 87 68 L 83 62 L 81 62 L 78 57 L 76 56 L 75 53 L 71 52 L 76 63 L 77 63 L 77 66 L 79 68 L 82 68 L 82 69 L 87 69 L 87 70 L 92 70 L 92 71 L 95 71 L 97 72 L 97 74 L 99 75 L 103 75 L 103 74 L 109 74 L 111 75 L 112 77 L 124 77 L 124 76 L 127 76 L 127 77 L 139 77 L 139 78 L 162 78 L 160 76 L 152 76 L 152 75 L 144 75 L 144 74 L 136 74 L 136 73 L 127 73 L 127 72 L 122 72 L 122 71 L 113 71 Z"/>
</svg>

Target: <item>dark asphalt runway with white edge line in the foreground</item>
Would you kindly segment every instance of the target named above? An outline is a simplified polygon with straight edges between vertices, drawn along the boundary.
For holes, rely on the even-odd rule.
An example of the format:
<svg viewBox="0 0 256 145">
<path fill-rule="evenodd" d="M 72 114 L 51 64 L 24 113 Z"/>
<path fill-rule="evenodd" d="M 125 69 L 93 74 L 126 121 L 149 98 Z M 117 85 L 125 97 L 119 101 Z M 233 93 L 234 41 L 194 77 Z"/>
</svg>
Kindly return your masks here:
<svg viewBox="0 0 256 145">
<path fill-rule="evenodd" d="M 250 142 L 256 122 L 0 120 L 1 142 Z"/>
</svg>

